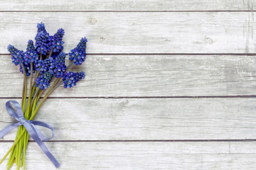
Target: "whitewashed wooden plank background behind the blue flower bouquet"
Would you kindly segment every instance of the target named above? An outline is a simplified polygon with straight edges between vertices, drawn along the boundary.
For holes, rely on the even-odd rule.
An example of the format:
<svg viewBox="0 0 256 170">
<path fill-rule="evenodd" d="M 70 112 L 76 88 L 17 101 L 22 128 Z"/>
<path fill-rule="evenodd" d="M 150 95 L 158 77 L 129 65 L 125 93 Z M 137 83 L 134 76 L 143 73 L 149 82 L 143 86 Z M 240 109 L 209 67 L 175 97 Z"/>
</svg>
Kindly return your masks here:
<svg viewBox="0 0 256 170">
<path fill-rule="evenodd" d="M 36 117 L 60 169 L 255 169 L 255 0 L 1 0 L 0 129 L 23 76 L 36 23 L 65 29 L 65 52 L 86 36 L 87 74 L 58 88 Z M 1 157 L 16 130 L 0 140 Z M 5 168 L 6 162 L 0 166 Z M 30 142 L 28 169 L 55 169 Z"/>
</svg>

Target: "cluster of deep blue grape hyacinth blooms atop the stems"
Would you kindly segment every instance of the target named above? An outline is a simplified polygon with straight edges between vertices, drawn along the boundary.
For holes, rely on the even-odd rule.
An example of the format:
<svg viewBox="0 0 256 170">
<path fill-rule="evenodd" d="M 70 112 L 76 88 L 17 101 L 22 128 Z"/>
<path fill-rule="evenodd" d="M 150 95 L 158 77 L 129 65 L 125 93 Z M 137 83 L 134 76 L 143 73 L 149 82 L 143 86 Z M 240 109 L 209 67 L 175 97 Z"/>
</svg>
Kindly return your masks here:
<svg viewBox="0 0 256 170">
<path fill-rule="evenodd" d="M 63 52 L 64 30 L 60 28 L 57 33 L 50 35 L 46 31 L 44 23 L 38 23 L 37 28 L 35 45 L 33 40 L 28 40 L 26 52 L 18 50 L 13 45 L 7 47 L 11 53 L 12 62 L 15 65 L 20 65 L 20 72 L 23 74 L 25 72 L 26 76 L 37 72 L 36 87 L 40 87 L 42 90 L 50 86 L 53 77 L 62 78 L 65 88 L 71 88 L 80 79 L 84 79 L 84 72 L 73 73 L 66 70 L 66 55 Z M 87 39 L 82 38 L 78 45 L 68 53 L 70 64 L 80 65 L 85 62 L 86 43 Z"/>
</svg>

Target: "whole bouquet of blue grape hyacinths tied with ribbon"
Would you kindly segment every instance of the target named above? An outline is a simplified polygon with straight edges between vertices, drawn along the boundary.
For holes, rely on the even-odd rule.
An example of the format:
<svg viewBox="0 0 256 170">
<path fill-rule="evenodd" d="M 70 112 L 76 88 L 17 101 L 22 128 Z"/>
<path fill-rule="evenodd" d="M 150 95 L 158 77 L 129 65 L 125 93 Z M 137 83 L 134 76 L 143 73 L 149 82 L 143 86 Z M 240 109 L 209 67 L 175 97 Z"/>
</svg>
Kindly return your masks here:
<svg viewBox="0 0 256 170">
<path fill-rule="evenodd" d="M 18 127 L 14 145 L 0 161 L 1 164 L 10 154 L 7 169 L 10 169 L 14 163 L 16 163 L 17 169 L 21 166 L 25 169 L 26 147 L 29 136 L 38 143 L 56 168 L 60 166 L 46 145 L 43 144 L 43 141 L 50 140 L 53 136 L 46 138 L 36 128 L 36 125 L 50 130 L 53 130 L 53 128 L 47 123 L 34 121 L 33 119 L 46 98 L 58 86 L 63 85 L 64 88 L 72 88 L 78 81 L 85 78 L 84 72 L 68 72 L 68 69 L 73 64 L 80 65 L 85 61 L 87 39 L 82 38 L 78 45 L 68 53 L 70 63 L 66 66 L 66 54 L 63 52 L 64 30 L 60 28 L 54 35 L 49 35 L 44 23 L 38 23 L 37 28 L 36 42 L 34 44 L 33 40 L 28 40 L 26 52 L 18 50 L 13 45 L 8 46 L 12 62 L 18 65 L 20 72 L 23 73 L 23 91 L 21 105 L 16 101 L 6 103 L 6 110 L 18 120 L 18 123 L 9 125 L 0 131 L 1 138 Z"/>
</svg>

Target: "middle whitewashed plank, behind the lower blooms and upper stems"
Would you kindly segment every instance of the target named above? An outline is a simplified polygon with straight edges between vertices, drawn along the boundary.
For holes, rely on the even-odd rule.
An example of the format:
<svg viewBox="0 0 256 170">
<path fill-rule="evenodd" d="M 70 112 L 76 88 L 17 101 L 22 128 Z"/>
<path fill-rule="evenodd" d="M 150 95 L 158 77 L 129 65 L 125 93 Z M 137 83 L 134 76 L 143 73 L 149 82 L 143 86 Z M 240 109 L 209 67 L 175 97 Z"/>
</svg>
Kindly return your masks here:
<svg viewBox="0 0 256 170">
<path fill-rule="evenodd" d="M 0 56 L 0 97 L 21 97 L 23 74 Z M 51 96 L 243 96 L 256 94 L 255 56 L 88 55 L 85 79 Z M 68 61 L 67 61 L 68 64 Z"/>
</svg>

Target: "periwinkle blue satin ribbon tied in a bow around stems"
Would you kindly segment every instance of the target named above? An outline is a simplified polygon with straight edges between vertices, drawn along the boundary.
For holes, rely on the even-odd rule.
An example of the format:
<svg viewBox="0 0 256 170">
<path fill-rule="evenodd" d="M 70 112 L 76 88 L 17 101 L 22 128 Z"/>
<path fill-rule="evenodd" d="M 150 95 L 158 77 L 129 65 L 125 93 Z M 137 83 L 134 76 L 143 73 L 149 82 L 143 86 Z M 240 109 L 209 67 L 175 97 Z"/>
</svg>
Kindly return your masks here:
<svg viewBox="0 0 256 170">
<path fill-rule="evenodd" d="M 14 108 L 11 106 L 11 103 L 14 104 L 16 111 L 14 111 Z M 53 127 L 41 121 L 26 120 L 26 118 L 24 118 L 23 116 L 23 111 L 21 109 L 21 106 L 18 104 L 17 101 L 7 101 L 6 110 L 12 117 L 18 120 L 18 123 L 11 124 L 6 128 L 4 128 L 3 130 L 1 130 L 0 139 L 4 137 L 7 133 L 9 133 L 11 130 L 14 130 L 14 128 L 17 128 L 20 125 L 23 125 L 28 131 L 28 134 L 33 138 L 33 140 L 36 141 L 39 147 L 41 147 L 41 149 L 46 154 L 46 156 L 50 159 L 50 161 L 53 162 L 54 166 L 56 168 L 60 167 L 60 163 L 57 161 L 57 159 L 55 159 L 55 157 L 53 157 L 53 154 L 50 153 L 49 149 L 43 143 L 43 141 L 48 141 L 53 138 L 54 136 Z M 42 132 L 38 130 L 38 128 L 36 128 L 36 125 L 50 129 L 53 132 L 52 137 L 47 138 L 45 135 L 42 134 Z"/>
</svg>

